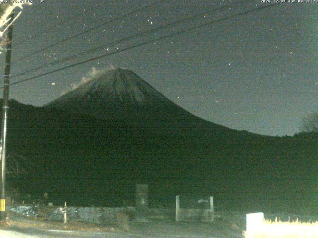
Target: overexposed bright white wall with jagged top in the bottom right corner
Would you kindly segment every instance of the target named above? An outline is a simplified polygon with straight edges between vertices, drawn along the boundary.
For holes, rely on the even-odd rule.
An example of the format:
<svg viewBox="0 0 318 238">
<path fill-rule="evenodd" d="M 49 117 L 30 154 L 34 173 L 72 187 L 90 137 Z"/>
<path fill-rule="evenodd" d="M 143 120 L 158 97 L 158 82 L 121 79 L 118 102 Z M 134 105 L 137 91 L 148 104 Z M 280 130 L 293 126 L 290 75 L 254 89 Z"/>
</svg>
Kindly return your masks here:
<svg viewBox="0 0 318 238">
<path fill-rule="evenodd" d="M 246 214 L 245 238 L 318 238 L 318 222 L 275 222 L 265 220 L 263 213 Z"/>
</svg>

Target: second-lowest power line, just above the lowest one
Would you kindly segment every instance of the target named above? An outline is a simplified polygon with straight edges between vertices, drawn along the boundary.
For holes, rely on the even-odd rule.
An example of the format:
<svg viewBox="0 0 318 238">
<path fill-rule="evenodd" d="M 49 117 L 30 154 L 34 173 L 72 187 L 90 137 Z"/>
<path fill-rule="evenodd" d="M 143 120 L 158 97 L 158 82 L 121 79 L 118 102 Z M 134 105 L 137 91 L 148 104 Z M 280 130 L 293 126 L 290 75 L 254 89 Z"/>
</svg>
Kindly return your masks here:
<svg viewBox="0 0 318 238">
<path fill-rule="evenodd" d="M 33 72 L 33 71 L 37 71 L 37 70 L 39 70 L 39 69 L 43 69 L 43 68 L 46 68 L 46 67 L 50 67 L 50 66 L 56 65 L 56 64 L 58 64 L 58 63 L 65 62 L 65 61 L 67 61 L 67 60 L 72 60 L 72 59 L 78 58 L 78 57 L 81 56 L 81 55 L 87 55 L 87 54 L 92 53 L 92 52 L 94 52 L 94 51 L 97 51 L 97 50 L 99 50 L 99 49 L 103 49 L 103 48 L 106 48 L 106 47 L 110 47 L 110 46 L 112 46 L 112 45 L 119 44 L 119 43 L 122 43 L 122 42 L 124 42 L 124 41 L 137 38 L 137 37 L 142 36 L 142 35 L 144 35 L 144 34 L 148 34 L 148 33 L 154 32 L 154 31 L 158 31 L 158 30 L 161 30 L 161 29 L 165 29 L 165 28 L 168 28 L 168 27 L 170 27 L 170 26 L 179 24 L 179 23 L 181 23 L 181 22 L 183 22 L 183 21 L 188 21 L 188 20 L 194 19 L 194 18 L 199 17 L 199 16 L 205 16 L 205 15 L 210 14 L 210 13 L 212 13 L 212 12 L 215 12 L 215 11 L 217 11 L 217 10 L 222 10 L 222 9 L 224 9 L 224 8 L 232 7 L 232 6 L 234 6 L 234 5 L 237 5 L 237 4 L 240 4 L 240 3 L 243 3 L 243 2 L 246 2 L 246 0 L 241 0 L 241 1 L 235 2 L 235 3 L 233 3 L 233 4 L 229 4 L 229 5 L 226 5 L 226 6 L 214 8 L 214 9 L 212 9 L 212 10 L 210 10 L 210 11 L 206 11 L 206 12 L 204 12 L 204 13 L 196 14 L 196 15 L 194 15 L 194 16 L 186 17 L 186 18 L 183 18 L 183 19 L 181 19 L 181 20 L 177 20 L 177 21 L 174 21 L 174 22 L 171 22 L 171 23 L 168 23 L 168 24 L 165 24 L 165 25 L 162 25 L 162 26 L 159 26 L 159 27 L 156 27 L 156 28 L 147 30 L 147 31 L 143 31 L 143 32 L 134 34 L 134 35 L 132 35 L 132 36 L 128 36 L 128 37 L 122 38 L 122 39 L 120 39 L 120 40 L 113 41 L 113 42 L 107 43 L 107 44 L 105 44 L 105 45 L 98 46 L 98 47 L 96 47 L 96 48 L 92 48 L 92 49 L 90 49 L 90 50 L 81 52 L 81 53 L 79 53 L 79 54 L 75 54 L 75 55 L 66 57 L 66 58 L 61 59 L 61 60 L 56 60 L 56 61 L 53 61 L 53 62 L 49 62 L 49 63 L 46 63 L 46 64 L 44 64 L 44 65 L 38 66 L 38 67 L 36 67 L 36 68 L 33 68 L 33 69 L 30 69 L 30 70 L 27 70 L 27 71 L 24 71 L 24 72 L 15 74 L 15 75 L 13 75 L 11 78 L 23 76 L 23 75 L 25 75 L 26 73 L 30 73 L 30 72 Z"/>
</svg>

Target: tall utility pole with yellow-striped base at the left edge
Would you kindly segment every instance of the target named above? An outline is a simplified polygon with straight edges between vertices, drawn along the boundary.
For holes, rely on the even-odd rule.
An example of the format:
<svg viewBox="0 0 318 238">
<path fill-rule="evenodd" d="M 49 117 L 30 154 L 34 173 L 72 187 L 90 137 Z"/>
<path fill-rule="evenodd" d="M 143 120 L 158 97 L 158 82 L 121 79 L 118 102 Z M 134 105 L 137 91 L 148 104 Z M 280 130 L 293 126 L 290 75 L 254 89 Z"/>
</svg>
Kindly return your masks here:
<svg viewBox="0 0 318 238">
<path fill-rule="evenodd" d="M 1 121 L 1 141 L 0 141 L 0 160 L 1 160 L 1 198 L 0 198 L 0 221 L 5 221 L 5 157 L 6 157 L 6 121 L 9 101 L 9 83 L 10 83 L 10 61 L 11 61 L 11 43 L 13 30 L 14 13 L 9 15 L 9 25 L 6 36 L 6 54 L 4 64 L 4 81 L 3 81 L 3 102 L 2 102 L 2 121 Z"/>
</svg>

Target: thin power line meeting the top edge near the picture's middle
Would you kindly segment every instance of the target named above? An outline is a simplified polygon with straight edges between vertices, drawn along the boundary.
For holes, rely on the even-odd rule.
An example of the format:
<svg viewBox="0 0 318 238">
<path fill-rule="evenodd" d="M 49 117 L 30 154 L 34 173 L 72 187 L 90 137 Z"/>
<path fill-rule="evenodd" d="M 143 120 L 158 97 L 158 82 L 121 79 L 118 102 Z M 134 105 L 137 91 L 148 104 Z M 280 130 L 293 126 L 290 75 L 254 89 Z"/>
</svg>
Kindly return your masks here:
<svg viewBox="0 0 318 238">
<path fill-rule="evenodd" d="M 111 19 L 111 20 L 104 21 L 103 23 L 101 23 L 101 24 L 99 24 L 99 25 L 97 25 L 97 26 L 95 26 L 95 27 L 92 27 L 92 28 L 90 28 L 90 29 L 88 29 L 88 30 L 82 31 L 82 32 L 80 32 L 80 33 L 78 33 L 78 34 L 75 34 L 75 35 L 73 35 L 73 36 L 71 36 L 71 37 L 68 37 L 68 38 L 66 38 L 66 39 L 64 39 L 64 40 L 62 40 L 62 41 L 56 42 L 56 43 L 54 43 L 54 44 L 51 44 L 51 45 L 49 45 L 49 46 L 47 46 L 47 47 L 45 47 L 45 48 L 42 48 L 42 49 L 40 49 L 40 50 L 38 50 L 38 51 L 35 51 L 35 52 L 33 52 L 33 53 L 30 53 L 29 55 L 23 56 L 23 57 L 19 58 L 18 60 L 13 61 L 12 63 L 19 62 L 19 61 L 21 61 L 21 60 L 24 60 L 24 59 L 30 57 L 30 56 L 34 56 L 34 55 L 36 55 L 36 54 L 38 54 L 38 53 L 40 53 L 40 52 L 43 52 L 43 51 L 45 51 L 45 50 L 48 50 L 48 49 L 50 49 L 50 48 L 52 48 L 52 47 L 54 47 L 54 46 L 60 45 L 61 43 L 67 42 L 67 41 L 72 40 L 72 39 L 74 39 L 74 38 L 76 38 L 76 37 L 78 37 L 78 36 L 81 36 L 81 35 L 83 35 L 83 34 L 86 34 L 87 32 L 90 32 L 90 31 L 92 31 L 92 30 L 95 30 L 95 29 L 97 29 L 97 28 L 99 28 L 99 27 L 101 27 L 101 26 L 104 26 L 104 25 L 107 25 L 107 24 L 109 24 L 109 23 L 112 23 L 112 22 L 114 22 L 114 21 L 116 21 L 116 20 L 118 20 L 118 19 L 125 18 L 125 17 L 127 17 L 127 16 L 129 16 L 129 15 L 131 15 L 131 14 L 133 14 L 133 13 L 138 12 L 138 11 L 142 11 L 142 10 L 144 10 L 145 8 L 151 7 L 151 6 L 153 6 L 153 5 L 157 4 L 157 3 L 159 3 L 160 1 L 164 1 L 164 0 L 157 0 L 157 1 L 155 1 L 155 2 L 152 2 L 151 4 L 145 5 L 145 6 L 141 7 L 141 8 L 137 8 L 137 9 L 132 10 L 132 11 L 126 13 L 126 14 L 123 14 L 123 15 L 120 15 L 120 16 L 118 16 L 118 17 L 115 17 L 115 18 L 113 18 L 113 19 Z"/>
</svg>

